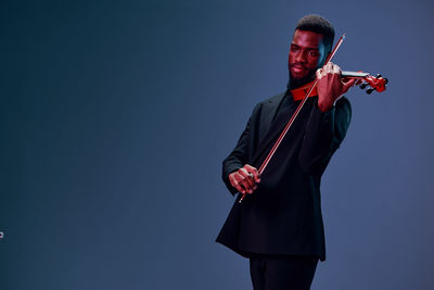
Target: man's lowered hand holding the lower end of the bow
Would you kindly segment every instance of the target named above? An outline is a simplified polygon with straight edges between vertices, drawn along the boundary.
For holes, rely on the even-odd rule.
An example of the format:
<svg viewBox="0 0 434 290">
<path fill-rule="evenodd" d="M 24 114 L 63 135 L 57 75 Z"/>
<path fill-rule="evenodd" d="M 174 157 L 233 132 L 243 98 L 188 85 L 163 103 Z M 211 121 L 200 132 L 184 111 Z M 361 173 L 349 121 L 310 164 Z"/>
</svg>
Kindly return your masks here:
<svg viewBox="0 0 434 290">
<path fill-rule="evenodd" d="M 229 175 L 229 181 L 241 193 L 253 193 L 260 182 L 258 171 L 252 165 L 245 164 L 243 167 Z"/>
</svg>

